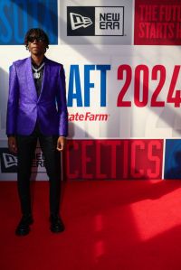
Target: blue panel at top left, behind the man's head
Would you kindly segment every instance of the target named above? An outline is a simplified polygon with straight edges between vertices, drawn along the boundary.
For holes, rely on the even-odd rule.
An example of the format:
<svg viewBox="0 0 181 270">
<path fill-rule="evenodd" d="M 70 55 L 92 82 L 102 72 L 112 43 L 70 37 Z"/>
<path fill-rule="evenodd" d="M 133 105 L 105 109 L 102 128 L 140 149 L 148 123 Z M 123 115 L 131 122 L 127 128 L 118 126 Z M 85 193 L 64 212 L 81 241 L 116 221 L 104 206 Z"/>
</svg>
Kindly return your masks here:
<svg viewBox="0 0 181 270">
<path fill-rule="evenodd" d="M 30 28 L 42 28 L 58 43 L 57 0 L 1 0 L 0 45 L 20 45 Z"/>
</svg>

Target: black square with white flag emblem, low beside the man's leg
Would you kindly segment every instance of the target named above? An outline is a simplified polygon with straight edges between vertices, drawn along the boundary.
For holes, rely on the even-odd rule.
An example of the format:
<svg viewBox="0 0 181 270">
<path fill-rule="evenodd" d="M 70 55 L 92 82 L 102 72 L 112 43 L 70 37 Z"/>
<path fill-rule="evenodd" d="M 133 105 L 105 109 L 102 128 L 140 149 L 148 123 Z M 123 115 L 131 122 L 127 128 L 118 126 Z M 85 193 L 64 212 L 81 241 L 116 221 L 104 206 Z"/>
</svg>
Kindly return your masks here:
<svg viewBox="0 0 181 270">
<path fill-rule="evenodd" d="M 17 156 L 11 154 L 8 148 L 0 149 L 1 172 L 17 172 Z"/>
</svg>

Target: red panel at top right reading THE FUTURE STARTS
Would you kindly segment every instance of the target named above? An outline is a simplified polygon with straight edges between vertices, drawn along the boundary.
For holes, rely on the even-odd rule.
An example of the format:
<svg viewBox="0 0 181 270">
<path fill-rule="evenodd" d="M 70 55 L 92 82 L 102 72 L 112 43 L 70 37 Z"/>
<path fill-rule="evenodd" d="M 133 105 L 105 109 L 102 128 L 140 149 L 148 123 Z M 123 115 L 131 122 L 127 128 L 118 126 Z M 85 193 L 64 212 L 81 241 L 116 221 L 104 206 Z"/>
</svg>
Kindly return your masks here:
<svg viewBox="0 0 181 270">
<path fill-rule="evenodd" d="M 136 45 L 180 45 L 180 0 L 136 0 Z"/>
</svg>

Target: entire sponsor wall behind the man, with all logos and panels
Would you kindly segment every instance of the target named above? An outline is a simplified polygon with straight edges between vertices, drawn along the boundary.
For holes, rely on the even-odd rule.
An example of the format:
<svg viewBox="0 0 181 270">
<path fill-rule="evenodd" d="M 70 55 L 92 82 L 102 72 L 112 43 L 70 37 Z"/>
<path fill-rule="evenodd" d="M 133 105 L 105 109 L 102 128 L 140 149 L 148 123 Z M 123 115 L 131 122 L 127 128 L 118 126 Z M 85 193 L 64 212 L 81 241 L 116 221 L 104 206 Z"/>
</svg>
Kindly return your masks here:
<svg viewBox="0 0 181 270">
<path fill-rule="evenodd" d="M 0 1 L 0 180 L 15 180 L 5 135 L 8 73 L 28 29 L 64 65 L 70 180 L 181 179 L 180 0 Z M 33 178 L 46 180 L 37 145 Z"/>
</svg>

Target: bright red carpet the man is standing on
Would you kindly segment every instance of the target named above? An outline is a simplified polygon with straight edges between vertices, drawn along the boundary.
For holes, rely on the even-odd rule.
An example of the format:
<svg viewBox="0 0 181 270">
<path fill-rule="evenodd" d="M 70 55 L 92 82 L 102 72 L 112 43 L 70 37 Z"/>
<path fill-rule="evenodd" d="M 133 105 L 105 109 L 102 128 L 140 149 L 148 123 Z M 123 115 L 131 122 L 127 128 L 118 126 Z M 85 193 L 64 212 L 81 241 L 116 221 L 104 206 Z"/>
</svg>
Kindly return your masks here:
<svg viewBox="0 0 181 270">
<path fill-rule="evenodd" d="M 15 182 L 0 182 L 1 270 L 180 270 L 181 182 L 65 182 L 66 230 L 49 230 L 48 182 L 33 182 L 31 233 L 16 237 Z"/>
</svg>

